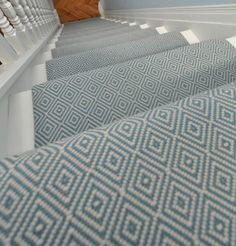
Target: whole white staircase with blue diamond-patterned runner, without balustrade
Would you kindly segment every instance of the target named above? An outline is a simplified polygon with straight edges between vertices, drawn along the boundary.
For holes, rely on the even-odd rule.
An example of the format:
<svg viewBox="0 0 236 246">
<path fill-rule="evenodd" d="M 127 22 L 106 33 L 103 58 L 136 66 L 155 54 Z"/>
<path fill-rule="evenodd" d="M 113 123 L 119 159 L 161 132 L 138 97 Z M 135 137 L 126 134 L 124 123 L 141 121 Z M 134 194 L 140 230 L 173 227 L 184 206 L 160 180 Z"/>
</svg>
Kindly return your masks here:
<svg viewBox="0 0 236 246">
<path fill-rule="evenodd" d="M 0 245 L 236 245 L 236 41 L 65 24 L 9 99 Z"/>
</svg>

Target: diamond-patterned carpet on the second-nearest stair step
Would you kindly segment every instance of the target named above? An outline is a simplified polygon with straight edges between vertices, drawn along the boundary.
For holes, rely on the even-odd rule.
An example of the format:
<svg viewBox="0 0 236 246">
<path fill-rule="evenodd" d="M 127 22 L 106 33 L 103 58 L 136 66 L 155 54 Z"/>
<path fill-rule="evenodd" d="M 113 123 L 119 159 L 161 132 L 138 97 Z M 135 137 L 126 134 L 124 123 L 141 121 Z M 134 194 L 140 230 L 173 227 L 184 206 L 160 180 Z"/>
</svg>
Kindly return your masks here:
<svg viewBox="0 0 236 246">
<path fill-rule="evenodd" d="M 36 147 L 236 80 L 236 50 L 211 40 L 33 88 Z"/>
</svg>

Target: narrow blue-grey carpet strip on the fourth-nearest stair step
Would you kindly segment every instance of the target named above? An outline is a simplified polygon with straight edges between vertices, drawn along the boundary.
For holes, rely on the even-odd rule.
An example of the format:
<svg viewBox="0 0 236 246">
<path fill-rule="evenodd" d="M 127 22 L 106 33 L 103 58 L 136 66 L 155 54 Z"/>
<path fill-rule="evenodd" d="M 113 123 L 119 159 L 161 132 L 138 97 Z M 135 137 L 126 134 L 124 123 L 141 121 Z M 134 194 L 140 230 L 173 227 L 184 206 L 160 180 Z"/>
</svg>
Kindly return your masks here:
<svg viewBox="0 0 236 246">
<path fill-rule="evenodd" d="M 134 41 L 138 39 L 144 39 L 147 37 L 157 36 L 158 33 L 156 30 L 148 29 L 148 30 L 136 30 L 131 29 L 129 32 L 112 35 L 111 37 L 103 37 L 99 39 L 93 39 L 92 41 L 84 41 L 79 43 L 74 43 L 71 45 L 60 46 L 56 49 L 52 50 L 53 58 L 73 55 L 75 53 L 79 53 L 82 51 L 93 50 L 97 48 L 104 48 L 111 45 L 121 44 L 128 41 Z"/>
</svg>

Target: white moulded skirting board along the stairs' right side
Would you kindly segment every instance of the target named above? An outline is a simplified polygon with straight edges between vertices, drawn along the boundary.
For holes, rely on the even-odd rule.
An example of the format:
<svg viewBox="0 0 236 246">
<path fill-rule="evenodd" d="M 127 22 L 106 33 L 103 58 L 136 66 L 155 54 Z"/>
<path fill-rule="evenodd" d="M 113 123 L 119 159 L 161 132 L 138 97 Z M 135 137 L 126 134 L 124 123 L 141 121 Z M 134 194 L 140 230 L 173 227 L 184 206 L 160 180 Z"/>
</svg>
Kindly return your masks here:
<svg viewBox="0 0 236 246">
<path fill-rule="evenodd" d="M 165 26 L 168 32 L 191 29 L 200 41 L 236 35 L 236 4 L 179 8 L 105 10 L 106 18 Z"/>
</svg>

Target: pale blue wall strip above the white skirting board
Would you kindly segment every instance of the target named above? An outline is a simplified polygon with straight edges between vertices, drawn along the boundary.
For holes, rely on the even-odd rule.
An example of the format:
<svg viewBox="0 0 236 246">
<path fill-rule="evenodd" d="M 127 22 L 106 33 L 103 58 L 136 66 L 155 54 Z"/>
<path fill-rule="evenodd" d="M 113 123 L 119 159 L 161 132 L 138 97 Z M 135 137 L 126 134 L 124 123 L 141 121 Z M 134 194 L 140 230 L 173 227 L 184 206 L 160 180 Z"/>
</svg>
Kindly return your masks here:
<svg viewBox="0 0 236 246">
<path fill-rule="evenodd" d="M 236 0 L 101 0 L 104 9 L 162 8 L 196 5 L 235 4 Z"/>
</svg>

